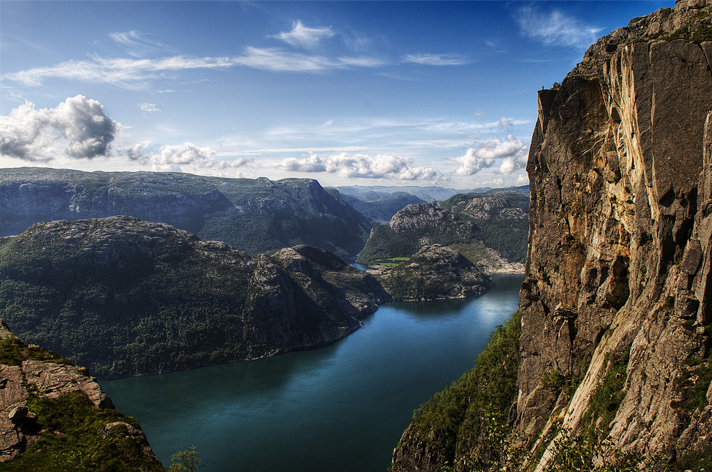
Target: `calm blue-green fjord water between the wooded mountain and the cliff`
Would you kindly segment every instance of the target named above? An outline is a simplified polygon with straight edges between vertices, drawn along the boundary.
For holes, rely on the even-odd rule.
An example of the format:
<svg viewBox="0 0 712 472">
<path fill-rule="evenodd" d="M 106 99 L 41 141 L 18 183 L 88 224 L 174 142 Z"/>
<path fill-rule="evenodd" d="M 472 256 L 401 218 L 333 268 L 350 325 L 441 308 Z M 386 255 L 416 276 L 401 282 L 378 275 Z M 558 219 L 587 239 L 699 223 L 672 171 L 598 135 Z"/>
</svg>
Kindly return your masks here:
<svg viewBox="0 0 712 472">
<path fill-rule="evenodd" d="M 327 347 L 102 382 L 164 466 L 202 472 L 385 472 L 412 412 L 471 368 L 517 308 L 520 275 L 477 299 L 394 303 Z"/>
</svg>

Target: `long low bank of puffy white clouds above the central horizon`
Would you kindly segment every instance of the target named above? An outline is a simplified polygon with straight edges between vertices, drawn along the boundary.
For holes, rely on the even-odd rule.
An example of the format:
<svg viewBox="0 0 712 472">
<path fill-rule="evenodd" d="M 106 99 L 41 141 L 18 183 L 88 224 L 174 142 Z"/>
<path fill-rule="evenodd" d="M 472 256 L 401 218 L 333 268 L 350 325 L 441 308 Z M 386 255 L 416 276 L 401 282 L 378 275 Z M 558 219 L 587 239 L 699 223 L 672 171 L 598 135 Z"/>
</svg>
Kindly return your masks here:
<svg viewBox="0 0 712 472">
<path fill-rule="evenodd" d="M 288 171 L 336 173 L 344 178 L 392 178 L 401 181 L 432 180 L 438 171 L 430 167 L 413 166 L 412 162 L 396 154 L 335 154 L 325 159 L 313 152 L 304 159 L 284 159 L 281 168 Z"/>
</svg>

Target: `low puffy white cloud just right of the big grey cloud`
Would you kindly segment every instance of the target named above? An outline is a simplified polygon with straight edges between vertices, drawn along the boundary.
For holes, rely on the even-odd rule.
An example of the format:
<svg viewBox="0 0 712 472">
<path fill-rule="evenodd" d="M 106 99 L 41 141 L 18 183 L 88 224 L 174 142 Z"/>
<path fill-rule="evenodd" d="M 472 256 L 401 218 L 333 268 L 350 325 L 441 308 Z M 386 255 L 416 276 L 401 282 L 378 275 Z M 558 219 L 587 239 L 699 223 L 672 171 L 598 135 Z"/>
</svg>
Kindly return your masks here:
<svg viewBox="0 0 712 472">
<path fill-rule="evenodd" d="M 142 141 L 128 151 L 132 161 L 150 164 L 158 171 L 180 171 L 184 167 L 211 168 L 222 170 L 244 166 L 247 159 L 240 158 L 234 161 L 218 161 L 215 159 L 216 151 L 210 147 L 198 147 L 192 143 L 167 144 L 161 146 L 158 154 L 149 154 L 145 150 L 150 146 L 147 141 Z"/>
</svg>

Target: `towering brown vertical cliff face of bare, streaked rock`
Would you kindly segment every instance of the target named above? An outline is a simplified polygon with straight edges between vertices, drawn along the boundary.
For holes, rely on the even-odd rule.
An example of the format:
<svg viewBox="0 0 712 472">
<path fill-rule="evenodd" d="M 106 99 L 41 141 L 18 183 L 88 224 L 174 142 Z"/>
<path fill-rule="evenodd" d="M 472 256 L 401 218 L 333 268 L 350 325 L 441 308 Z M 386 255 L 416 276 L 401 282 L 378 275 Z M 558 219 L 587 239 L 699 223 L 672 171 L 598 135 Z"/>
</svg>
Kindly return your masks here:
<svg viewBox="0 0 712 472">
<path fill-rule="evenodd" d="M 702 41 L 712 7 L 704 3 L 634 18 L 593 45 L 560 89 L 540 92 L 521 291 L 523 431 L 562 420 L 671 458 L 708 446 L 698 426 L 709 399 L 683 406 L 689 389 L 708 388 L 695 384 L 708 368 L 712 321 L 712 43 Z M 624 396 L 607 407 L 616 411 L 608 422 L 591 399 L 626 362 Z M 570 402 L 543 382 L 555 371 L 582 377 Z"/>
</svg>

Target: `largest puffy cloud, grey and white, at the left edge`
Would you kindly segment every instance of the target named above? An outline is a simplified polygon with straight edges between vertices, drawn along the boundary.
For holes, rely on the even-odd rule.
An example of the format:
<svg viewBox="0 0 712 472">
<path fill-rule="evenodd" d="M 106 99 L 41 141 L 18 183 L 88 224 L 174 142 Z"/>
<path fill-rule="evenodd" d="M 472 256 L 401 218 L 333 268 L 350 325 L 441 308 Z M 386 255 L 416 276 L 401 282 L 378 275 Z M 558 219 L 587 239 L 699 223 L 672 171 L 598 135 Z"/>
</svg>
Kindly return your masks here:
<svg viewBox="0 0 712 472">
<path fill-rule="evenodd" d="M 56 108 L 25 102 L 0 117 L 0 154 L 25 161 L 51 161 L 57 154 L 74 159 L 107 156 L 122 126 L 96 100 L 70 97 Z"/>
</svg>

